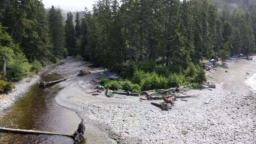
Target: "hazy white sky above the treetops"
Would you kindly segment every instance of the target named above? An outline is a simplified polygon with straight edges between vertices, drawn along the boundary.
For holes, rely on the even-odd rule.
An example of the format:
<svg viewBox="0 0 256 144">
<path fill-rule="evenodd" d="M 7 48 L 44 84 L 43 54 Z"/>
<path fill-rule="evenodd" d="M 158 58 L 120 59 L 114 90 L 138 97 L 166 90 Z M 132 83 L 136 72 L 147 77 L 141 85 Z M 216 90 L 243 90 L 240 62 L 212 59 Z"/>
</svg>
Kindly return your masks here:
<svg viewBox="0 0 256 144">
<path fill-rule="evenodd" d="M 92 10 L 92 4 L 94 4 L 96 0 L 43 0 L 43 4 L 45 8 L 52 7 L 60 7 L 62 10 L 68 11 L 81 11 L 87 9 Z"/>
</svg>

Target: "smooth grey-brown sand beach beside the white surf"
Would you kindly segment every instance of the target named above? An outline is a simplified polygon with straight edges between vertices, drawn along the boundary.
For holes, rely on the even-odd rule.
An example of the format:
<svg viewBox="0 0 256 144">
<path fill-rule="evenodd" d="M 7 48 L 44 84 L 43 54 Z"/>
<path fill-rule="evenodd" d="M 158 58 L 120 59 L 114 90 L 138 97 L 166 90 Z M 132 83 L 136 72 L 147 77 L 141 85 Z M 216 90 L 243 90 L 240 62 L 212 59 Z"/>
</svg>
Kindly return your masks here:
<svg viewBox="0 0 256 144">
<path fill-rule="evenodd" d="M 256 56 L 253 56 L 253 60 L 239 59 L 225 63 L 229 65 L 228 68 L 226 66 L 215 67 L 214 69 L 217 71 L 207 72 L 207 79 L 216 82 L 226 90 L 240 94 L 251 90 L 253 85 L 256 85 L 256 83 L 251 82 L 251 79 L 255 79 L 253 75 L 256 74 Z M 249 75 L 246 75 L 246 72 Z"/>
</svg>

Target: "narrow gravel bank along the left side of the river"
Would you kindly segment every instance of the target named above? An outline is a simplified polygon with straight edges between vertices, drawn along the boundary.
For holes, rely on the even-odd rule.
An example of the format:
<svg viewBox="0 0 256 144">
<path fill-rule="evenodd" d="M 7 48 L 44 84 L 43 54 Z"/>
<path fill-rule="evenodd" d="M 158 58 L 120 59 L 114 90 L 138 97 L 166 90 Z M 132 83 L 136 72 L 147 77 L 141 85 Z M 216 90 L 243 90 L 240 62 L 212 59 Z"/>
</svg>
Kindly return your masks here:
<svg viewBox="0 0 256 144">
<path fill-rule="evenodd" d="M 22 97 L 38 80 L 39 75 L 30 75 L 29 77 L 18 82 L 13 82 L 15 85 L 13 91 L 9 92 L 8 94 L 1 95 L 0 111 L 7 110 L 7 108 L 13 105 L 18 98 Z"/>
</svg>

